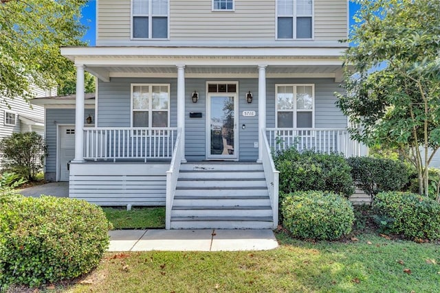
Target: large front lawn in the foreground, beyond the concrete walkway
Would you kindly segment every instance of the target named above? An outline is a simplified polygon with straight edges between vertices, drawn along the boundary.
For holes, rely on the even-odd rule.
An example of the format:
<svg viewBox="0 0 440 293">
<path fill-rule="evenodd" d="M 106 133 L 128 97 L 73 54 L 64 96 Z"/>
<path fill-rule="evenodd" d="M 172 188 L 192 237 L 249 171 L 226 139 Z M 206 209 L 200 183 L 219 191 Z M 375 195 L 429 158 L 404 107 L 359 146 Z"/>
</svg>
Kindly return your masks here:
<svg viewBox="0 0 440 293">
<path fill-rule="evenodd" d="M 68 292 L 438 292 L 440 246 L 374 234 L 256 252 L 107 253 Z M 82 283 L 81 283 L 82 282 Z"/>
</svg>

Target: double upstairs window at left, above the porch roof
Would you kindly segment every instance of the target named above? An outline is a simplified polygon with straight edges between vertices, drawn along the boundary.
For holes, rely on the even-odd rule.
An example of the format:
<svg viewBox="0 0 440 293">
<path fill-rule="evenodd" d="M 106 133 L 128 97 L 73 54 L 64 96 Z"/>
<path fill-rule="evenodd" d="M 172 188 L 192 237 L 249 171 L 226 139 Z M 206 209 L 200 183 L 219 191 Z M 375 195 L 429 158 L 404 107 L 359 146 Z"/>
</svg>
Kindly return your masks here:
<svg viewBox="0 0 440 293">
<path fill-rule="evenodd" d="M 132 0 L 133 38 L 168 38 L 168 0 Z"/>
</svg>

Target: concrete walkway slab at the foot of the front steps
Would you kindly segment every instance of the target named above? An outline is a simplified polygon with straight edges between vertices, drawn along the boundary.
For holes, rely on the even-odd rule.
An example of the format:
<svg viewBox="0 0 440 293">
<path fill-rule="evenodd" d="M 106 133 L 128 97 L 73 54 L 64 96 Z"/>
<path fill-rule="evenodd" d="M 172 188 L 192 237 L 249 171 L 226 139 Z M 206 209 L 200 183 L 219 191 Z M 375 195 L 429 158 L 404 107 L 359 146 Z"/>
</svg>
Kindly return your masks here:
<svg viewBox="0 0 440 293">
<path fill-rule="evenodd" d="M 116 230 L 109 251 L 237 251 L 278 247 L 274 232 L 263 230 Z"/>
</svg>

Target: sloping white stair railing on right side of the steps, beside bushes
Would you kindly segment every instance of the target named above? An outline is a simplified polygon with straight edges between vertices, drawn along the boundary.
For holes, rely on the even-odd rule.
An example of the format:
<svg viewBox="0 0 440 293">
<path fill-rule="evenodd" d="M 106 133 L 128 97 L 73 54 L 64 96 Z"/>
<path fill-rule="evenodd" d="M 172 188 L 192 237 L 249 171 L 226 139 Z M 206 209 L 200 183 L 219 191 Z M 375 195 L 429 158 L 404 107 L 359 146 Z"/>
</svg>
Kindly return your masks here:
<svg viewBox="0 0 440 293">
<path fill-rule="evenodd" d="M 272 205 L 274 228 L 278 226 L 278 180 L 280 172 L 275 169 L 274 160 L 267 141 L 265 130 L 263 131 L 262 161 L 266 178 L 267 190 L 269 191 L 270 204 Z"/>
</svg>

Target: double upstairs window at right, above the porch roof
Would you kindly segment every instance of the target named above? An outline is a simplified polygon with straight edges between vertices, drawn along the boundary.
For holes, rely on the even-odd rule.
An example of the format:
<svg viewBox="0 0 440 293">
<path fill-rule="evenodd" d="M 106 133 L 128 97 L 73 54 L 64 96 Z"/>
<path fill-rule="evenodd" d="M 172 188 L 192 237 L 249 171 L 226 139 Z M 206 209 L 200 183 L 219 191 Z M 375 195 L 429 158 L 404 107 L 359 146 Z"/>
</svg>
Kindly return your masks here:
<svg viewBox="0 0 440 293">
<path fill-rule="evenodd" d="M 278 39 L 313 38 L 314 0 L 278 0 Z"/>
</svg>

